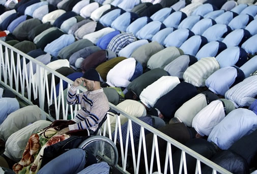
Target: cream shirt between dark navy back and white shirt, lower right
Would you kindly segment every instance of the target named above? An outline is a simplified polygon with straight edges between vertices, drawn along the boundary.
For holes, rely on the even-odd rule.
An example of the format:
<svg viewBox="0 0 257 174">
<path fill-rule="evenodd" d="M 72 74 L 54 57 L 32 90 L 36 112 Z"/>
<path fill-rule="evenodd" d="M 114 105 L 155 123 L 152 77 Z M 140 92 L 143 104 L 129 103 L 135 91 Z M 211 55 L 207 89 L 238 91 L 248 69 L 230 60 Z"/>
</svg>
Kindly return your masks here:
<svg viewBox="0 0 257 174">
<path fill-rule="evenodd" d="M 205 94 L 197 94 L 189 101 L 184 103 L 175 113 L 175 117 L 192 127 L 192 121 L 195 115 L 207 106 Z"/>
</svg>

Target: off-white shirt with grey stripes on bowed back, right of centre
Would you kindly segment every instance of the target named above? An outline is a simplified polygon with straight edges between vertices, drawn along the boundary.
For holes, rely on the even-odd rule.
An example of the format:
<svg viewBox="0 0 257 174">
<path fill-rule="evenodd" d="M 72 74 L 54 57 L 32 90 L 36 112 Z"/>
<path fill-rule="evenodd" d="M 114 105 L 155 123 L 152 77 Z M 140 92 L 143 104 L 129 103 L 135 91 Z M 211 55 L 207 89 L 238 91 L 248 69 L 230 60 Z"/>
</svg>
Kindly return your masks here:
<svg viewBox="0 0 257 174">
<path fill-rule="evenodd" d="M 206 79 L 218 69 L 219 63 L 214 57 L 202 58 L 186 69 L 183 79 L 196 87 L 203 87 Z"/>
</svg>

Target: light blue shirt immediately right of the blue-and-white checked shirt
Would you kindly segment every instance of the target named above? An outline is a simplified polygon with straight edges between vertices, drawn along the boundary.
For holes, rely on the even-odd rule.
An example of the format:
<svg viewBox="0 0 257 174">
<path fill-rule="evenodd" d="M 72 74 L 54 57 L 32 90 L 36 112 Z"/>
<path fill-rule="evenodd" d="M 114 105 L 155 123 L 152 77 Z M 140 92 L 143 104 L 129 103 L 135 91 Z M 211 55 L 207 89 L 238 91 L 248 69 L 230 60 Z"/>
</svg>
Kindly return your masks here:
<svg viewBox="0 0 257 174">
<path fill-rule="evenodd" d="M 140 46 L 147 44 L 148 41 L 145 39 L 137 40 L 135 42 L 132 42 L 125 46 L 121 51 L 119 52 L 119 57 L 126 57 L 130 58 L 131 54 Z"/>
</svg>

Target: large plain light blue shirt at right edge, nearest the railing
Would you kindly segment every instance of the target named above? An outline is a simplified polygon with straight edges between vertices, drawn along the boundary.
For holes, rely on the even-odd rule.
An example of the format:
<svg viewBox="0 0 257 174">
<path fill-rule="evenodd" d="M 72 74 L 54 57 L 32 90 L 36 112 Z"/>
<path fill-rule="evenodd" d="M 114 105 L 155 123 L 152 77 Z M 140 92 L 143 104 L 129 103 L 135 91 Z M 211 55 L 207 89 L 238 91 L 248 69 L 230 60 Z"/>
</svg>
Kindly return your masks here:
<svg viewBox="0 0 257 174">
<path fill-rule="evenodd" d="M 248 109 L 235 109 L 216 125 L 208 137 L 209 142 L 214 142 L 227 150 L 231 145 L 245 135 L 249 135 L 257 128 L 257 115 Z"/>
</svg>

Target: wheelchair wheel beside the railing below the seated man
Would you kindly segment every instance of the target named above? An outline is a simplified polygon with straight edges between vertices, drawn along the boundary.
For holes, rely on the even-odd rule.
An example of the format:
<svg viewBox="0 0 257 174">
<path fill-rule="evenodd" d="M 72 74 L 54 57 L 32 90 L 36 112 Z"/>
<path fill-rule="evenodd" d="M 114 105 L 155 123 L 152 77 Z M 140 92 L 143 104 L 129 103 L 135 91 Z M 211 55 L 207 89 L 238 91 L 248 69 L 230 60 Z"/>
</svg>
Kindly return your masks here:
<svg viewBox="0 0 257 174">
<path fill-rule="evenodd" d="M 105 161 L 116 166 L 118 163 L 118 150 L 116 145 L 105 136 L 93 136 L 81 142 L 78 148 L 92 153 L 98 161 Z"/>
</svg>

